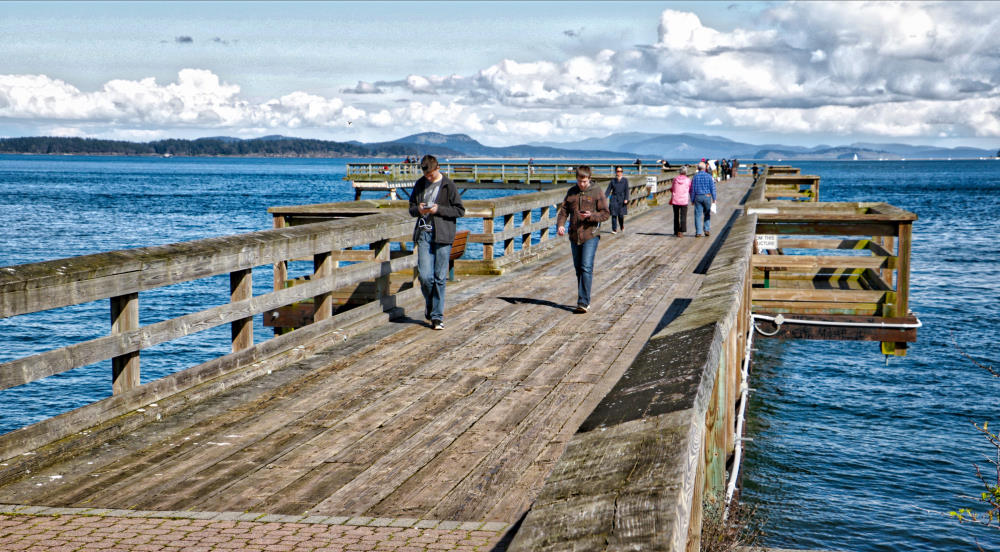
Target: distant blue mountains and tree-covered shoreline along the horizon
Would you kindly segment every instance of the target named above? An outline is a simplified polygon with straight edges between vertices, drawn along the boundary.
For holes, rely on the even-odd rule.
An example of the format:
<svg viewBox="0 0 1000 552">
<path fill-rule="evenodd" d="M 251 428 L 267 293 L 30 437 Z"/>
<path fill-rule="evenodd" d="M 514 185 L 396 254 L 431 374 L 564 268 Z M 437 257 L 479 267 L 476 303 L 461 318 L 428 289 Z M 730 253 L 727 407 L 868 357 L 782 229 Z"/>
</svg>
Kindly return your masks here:
<svg viewBox="0 0 1000 552">
<path fill-rule="evenodd" d="M 702 157 L 757 160 L 836 159 L 976 159 L 1000 156 L 979 148 L 938 148 L 908 144 L 857 142 L 847 146 L 755 145 L 704 134 L 628 132 L 576 142 L 539 142 L 485 146 L 466 134 L 424 132 L 389 142 L 334 142 L 280 135 L 242 139 L 213 136 L 197 140 L 125 142 L 88 138 L 30 137 L 0 139 L 0 153 L 79 155 L 184 155 L 262 157 L 438 157 L 540 159 L 665 159 L 674 163 Z"/>
</svg>

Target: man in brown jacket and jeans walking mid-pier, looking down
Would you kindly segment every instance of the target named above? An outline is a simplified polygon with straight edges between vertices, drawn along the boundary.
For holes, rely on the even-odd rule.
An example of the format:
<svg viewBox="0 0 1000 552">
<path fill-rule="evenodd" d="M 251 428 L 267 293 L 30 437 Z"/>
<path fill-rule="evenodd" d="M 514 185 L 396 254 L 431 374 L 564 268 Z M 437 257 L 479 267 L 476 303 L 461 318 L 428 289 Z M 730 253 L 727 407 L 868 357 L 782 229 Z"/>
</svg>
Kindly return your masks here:
<svg viewBox="0 0 1000 552">
<path fill-rule="evenodd" d="M 601 241 L 598 225 L 608 220 L 608 200 L 601 191 L 590 185 L 590 167 L 576 169 L 576 185 L 566 192 L 556 216 L 556 233 L 566 235 L 569 221 L 569 247 L 573 253 L 576 270 L 576 312 L 590 310 L 590 288 L 594 281 L 594 257 Z"/>
</svg>

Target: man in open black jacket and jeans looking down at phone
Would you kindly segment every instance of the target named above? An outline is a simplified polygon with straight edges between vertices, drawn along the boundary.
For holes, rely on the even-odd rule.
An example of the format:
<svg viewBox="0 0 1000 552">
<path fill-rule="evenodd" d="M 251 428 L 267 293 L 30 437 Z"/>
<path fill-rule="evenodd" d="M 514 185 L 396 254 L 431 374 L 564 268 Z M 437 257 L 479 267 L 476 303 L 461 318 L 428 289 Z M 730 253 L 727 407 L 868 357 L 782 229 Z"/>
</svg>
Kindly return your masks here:
<svg viewBox="0 0 1000 552">
<path fill-rule="evenodd" d="M 441 174 L 433 155 L 420 160 L 420 170 L 424 176 L 410 194 L 410 215 L 419 217 L 413 229 L 413 244 L 417 249 L 420 291 L 424 294 L 424 318 L 435 330 L 443 330 L 448 257 L 455 241 L 455 221 L 465 215 L 465 206 L 455 183 Z"/>
</svg>

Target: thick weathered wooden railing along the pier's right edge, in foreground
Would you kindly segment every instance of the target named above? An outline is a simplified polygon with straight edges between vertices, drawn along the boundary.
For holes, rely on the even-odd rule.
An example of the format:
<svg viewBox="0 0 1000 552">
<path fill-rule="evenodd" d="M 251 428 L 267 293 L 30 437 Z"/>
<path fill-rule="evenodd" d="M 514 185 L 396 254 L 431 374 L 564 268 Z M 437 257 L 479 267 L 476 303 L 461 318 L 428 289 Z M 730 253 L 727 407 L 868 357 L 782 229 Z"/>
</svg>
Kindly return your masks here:
<svg viewBox="0 0 1000 552">
<path fill-rule="evenodd" d="M 573 435 L 509 550 L 699 550 L 739 446 L 755 224 L 737 219 L 691 305 Z"/>
</svg>

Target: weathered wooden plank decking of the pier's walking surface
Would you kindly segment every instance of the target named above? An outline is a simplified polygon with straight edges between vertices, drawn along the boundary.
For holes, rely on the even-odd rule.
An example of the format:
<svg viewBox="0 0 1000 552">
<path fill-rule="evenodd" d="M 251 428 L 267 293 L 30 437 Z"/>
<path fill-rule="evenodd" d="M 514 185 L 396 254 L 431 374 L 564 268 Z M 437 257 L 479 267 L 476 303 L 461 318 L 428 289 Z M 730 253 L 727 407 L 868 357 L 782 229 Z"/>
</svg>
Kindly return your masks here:
<svg viewBox="0 0 1000 552">
<path fill-rule="evenodd" d="M 711 238 L 673 237 L 668 206 L 606 232 L 586 315 L 571 312 L 560 246 L 449 283 L 443 332 L 406 318 L 350 335 L 0 487 L 0 503 L 516 522 L 649 336 L 694 296 L 749 184 L 720 184 Z"/>
</svg>

